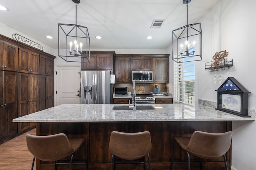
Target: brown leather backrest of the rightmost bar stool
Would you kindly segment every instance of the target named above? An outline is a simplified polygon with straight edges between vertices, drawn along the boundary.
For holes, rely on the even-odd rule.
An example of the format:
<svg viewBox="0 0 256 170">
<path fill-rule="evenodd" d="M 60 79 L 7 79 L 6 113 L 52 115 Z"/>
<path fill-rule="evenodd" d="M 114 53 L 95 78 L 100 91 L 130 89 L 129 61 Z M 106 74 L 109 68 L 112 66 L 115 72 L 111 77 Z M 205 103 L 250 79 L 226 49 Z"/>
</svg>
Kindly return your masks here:
<svg viewBox="0 0 256 170">
<path fill-rule="evenodd" d="M 194 131 L 186 150 L 201 158 L 218 158 L 230 148 L 231 138 L 231 131 L 225 133 Z"/>
</svg>

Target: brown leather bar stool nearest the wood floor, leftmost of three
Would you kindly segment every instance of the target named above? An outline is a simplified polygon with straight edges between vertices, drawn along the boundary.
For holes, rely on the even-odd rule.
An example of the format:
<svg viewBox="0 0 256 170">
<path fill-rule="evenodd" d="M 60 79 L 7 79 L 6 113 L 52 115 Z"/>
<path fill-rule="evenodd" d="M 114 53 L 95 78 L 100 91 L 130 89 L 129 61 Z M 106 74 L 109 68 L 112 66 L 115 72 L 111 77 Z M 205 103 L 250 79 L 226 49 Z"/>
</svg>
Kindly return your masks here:
<svg viewBox="0 0 256 170">
<path fill-rule="evenodd" d="M 32 153 L 32 155 L 34 155 L 31 170 L 33 170 L 35 158 L 43 161 L 54 161 L 55 170 L 57 170 L 58 164 L 70 164 L 70 170 L 72 170 L 73 164 L 86 164 L 86 169 L 88 170 L 84 138 L 68 139 L 64 133 L 47 136 L 35 136 L 27 134 L 26 141 L 28 150 Z M 73 155 L 82 144 L 84 145 L 84 162 L 73 163 Z M 56 162 L 70 155 L 70 163 Z"/>
</svg>

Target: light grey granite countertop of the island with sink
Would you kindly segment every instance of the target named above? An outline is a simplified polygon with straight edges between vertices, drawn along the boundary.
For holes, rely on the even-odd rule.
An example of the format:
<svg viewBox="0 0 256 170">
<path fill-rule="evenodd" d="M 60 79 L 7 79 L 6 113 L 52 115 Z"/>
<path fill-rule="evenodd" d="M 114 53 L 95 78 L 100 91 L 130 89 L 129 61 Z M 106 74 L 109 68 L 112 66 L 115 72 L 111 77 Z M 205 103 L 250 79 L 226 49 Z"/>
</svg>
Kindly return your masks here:
<svg viewBox="0 0 256 170">
<path fill-rule="evenodd" d="M 154 110 L 113 110 L 113 106 L 128 104 L 64 104 L 22 117 L 13 122 L 116 122 L 116 121 L 252 121 L 210 106 L 198 104 L 137 104 L 151 105 Z"/>
</svg>

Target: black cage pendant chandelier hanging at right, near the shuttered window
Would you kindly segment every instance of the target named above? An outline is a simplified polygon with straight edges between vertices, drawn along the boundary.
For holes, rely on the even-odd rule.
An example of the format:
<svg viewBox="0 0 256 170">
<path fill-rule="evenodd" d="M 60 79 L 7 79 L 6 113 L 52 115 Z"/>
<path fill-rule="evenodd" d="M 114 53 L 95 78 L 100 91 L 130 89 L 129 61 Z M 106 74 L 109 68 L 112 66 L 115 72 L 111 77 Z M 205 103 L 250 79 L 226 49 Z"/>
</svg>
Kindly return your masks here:
<svg viewBox="0 0 256 170">
<path fill-rule="evenodd" d="M 187 25 L 172 31 L 172 60 L 176 63 L 202 60 L 201 23 L 188 24 L 189 2 L 191 0 L 183 0 L 187 5 Z"/>
</svg>

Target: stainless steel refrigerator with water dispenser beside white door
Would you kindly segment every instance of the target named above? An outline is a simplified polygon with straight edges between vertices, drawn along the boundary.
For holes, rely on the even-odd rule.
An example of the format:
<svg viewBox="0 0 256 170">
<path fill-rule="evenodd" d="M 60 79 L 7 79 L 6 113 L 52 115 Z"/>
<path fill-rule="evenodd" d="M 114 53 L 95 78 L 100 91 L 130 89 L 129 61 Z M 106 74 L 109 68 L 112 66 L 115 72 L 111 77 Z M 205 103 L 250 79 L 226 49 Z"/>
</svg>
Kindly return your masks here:
<svg viewBox="0 0 256 170">
<path fill-rule="evenodd" d="M 110 71 L 81 71 L 81 104 L 110 104 Z"/>
</svg>

